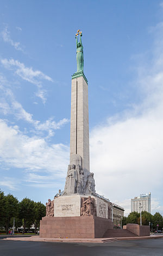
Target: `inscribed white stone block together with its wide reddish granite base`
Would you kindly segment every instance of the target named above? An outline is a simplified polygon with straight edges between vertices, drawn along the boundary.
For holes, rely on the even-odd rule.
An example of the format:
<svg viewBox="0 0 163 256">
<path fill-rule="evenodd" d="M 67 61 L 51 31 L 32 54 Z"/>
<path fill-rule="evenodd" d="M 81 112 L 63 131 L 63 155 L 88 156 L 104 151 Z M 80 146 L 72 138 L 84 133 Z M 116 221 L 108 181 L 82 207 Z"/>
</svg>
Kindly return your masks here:
<svg viewBox="0 0 163 256">
<path fill-rule="evenodd" d="M 54 216 L 40 221 L 40 237 L 102 238 L 114 227 L 108 207 L 108 202 L 95 196 L 59 196 L 54 199 Z"/>
</svg>

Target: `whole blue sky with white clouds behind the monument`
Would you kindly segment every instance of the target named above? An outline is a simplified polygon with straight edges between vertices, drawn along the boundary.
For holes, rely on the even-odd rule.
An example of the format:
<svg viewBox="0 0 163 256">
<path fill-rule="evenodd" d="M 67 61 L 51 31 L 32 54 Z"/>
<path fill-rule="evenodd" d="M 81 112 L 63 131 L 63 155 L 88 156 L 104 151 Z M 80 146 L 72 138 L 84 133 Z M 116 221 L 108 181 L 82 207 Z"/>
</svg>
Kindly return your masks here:
<svg viewBox="0 0 163 256">
<path fill-rule="evenodd" d="M 0 3 L 0 188 L 45 203 L 64 189 L 78 29 L 96 191 L 163 214 L 163 2 Z"/>
</svg>

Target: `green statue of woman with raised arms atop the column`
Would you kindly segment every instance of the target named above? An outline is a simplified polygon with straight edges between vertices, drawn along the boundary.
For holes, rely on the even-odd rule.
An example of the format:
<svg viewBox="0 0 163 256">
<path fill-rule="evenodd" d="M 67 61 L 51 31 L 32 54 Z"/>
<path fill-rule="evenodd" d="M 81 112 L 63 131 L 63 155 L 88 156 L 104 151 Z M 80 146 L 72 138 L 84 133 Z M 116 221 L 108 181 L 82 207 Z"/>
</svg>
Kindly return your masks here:
<svg viewBox="0 0 163 256">
<path fill-rule="evenodd" d="M 78 42 L 78 36 L 76 35 L 77 41 L 77 72 L 83 71 L 84 67 L 84 57 L 83 57 L 83 45 L 82 45 L 82 33 L 80 32 L 80 42 Z"/>
</svg>

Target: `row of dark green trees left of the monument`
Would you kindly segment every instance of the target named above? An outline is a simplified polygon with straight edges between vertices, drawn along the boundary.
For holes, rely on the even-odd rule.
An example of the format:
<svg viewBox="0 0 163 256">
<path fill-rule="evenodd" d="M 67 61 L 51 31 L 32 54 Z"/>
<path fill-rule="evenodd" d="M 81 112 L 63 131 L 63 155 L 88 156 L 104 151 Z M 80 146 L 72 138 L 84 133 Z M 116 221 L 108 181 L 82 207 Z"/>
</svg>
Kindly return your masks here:
<svg viewBox="0 0 163 256">
<path fill-rule="evenodd" d="M 15 227 L 23 226 L 23 234 L 34 224 L 35 234 L 40 226 L 40 220 L 46 215 L 46 206 L 41 202 L 34 202 L 29 198 L 23 198 L 19 203 L 17 198 L 0 190 L 0 226 L 5 227 L 8 234 L 9 228 L 13 226 L 15 217 Z"/>
</svg>

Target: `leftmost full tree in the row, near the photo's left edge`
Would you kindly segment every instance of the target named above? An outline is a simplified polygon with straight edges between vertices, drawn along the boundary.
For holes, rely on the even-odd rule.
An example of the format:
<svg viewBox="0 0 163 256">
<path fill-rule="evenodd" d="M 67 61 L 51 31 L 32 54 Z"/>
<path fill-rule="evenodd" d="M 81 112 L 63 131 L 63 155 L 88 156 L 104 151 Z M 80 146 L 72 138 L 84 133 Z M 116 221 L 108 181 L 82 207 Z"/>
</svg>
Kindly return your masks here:
<svg viewBox="0 0 163 256">
<path fill-rule="evenodd" d="M 9 233 L 9 225 L 11 223 L 12 217 L 17 217 L 18 215 L 18 200 L 16 197 L 8 194 L 5 196 L 5 216 L 4 216 L 4 223 L 5 223 L 5 230 L 6 233 Z"/>
</svg>

